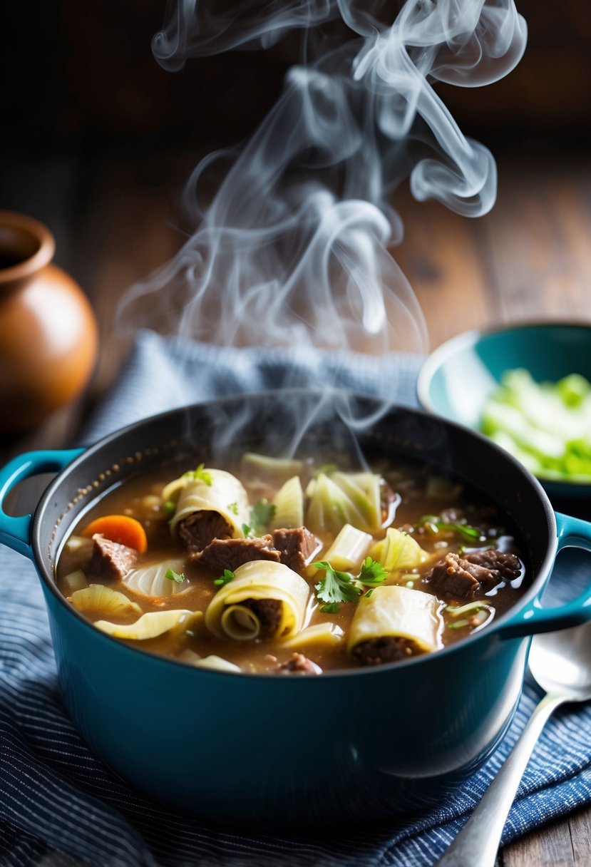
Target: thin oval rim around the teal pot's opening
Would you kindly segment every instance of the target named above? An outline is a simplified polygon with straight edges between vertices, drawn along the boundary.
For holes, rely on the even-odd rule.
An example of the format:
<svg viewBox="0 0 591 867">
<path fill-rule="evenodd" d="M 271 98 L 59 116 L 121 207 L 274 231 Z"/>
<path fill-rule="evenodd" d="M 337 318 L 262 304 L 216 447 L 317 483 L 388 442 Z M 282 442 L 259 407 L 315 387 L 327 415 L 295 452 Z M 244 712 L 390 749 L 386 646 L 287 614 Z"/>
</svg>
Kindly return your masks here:
<svg viewBox="0 0 591 867">
<path fill-rule="evenodd" d="M 347 391 L 347 389 L 334 389 L 339 392 L 347 392 L 352 397 L 358 397 L 364 400 L 375 400 L 381 401 L 382 403 L 386 402 L 382 398 L 372 394 L 360 394 L 353 391 Z M 197 674 L 194 676 L 213 676 L 213 677 L 246 677 L 249 679 L 254 679 L 255 681 L 285 681 L 285 675 L 279 673 L 263 673 L 263 672 L 234 672 L 234 671 L 220 671 L 218 669 L 211 668 L 197 668 L 195 666 L 190 665 L 187 662 L 182 662 L 181 660 L 176 660 L 171 657 L 158 655 L 155 653 L 150 653 L 147 650 L 141 648 L 135 648 L 126 642 L 121 641 L 114 636 L 109 636 L 107 633 L 101 631 L 101 629 L 96 629 L 93 623 L 90 623 L 85 617 L 81 615 L 80 612 L 75 610 L 75 608 L 70 605 L 66 599 L 66 596 L 62 594 L 60 590 L 58 590 L 57 585 L 55 583 L 55 579 L 53 576 L 49 576 L 49 570 L 46 570 L 45 564 L 43 563 L 42 557 L 40 556 L 40 537 L 41 537 L 41 518 L 42 512 L 45 504 L 51 499 L 55 490 L 59 488 L 62 484 L 62 480 L 75 468 L 81 466 L 92 460 L 94 454 L 99 452 L 103 447 L 115 442 L 116 440 L 123 437 L 125 434 L 132 432 L 138 427 L 146 427 L 151 423 L 154 423 L 156 420 L 164 420 L 167 417 L 173 417 L 178 414 L 185 414 L 187 412 L 191 412 L 193 408 L 198 407 L 214 407 L 220 403 L 227 403 L 232 400 L 248 400 L 250 397 L 257 399 L 272 399 L 276 394 L 285 394 L 286 391 L 289 394 L 326 394 L 325 391 L 321 389 L 315 388 L 289 388 L 289 389 L 267 389 L 264 391 L 250 392 L 250 393 L 238 393 L 225 395 L 224 397 L 217 398 L 212 401 L 198 401 L 192 404 L 187 404 L 181 407 L 175 407 L 173 409 L 166 410 L 165 412 L 154 414 L 146 417 L 145 419 L 140 419 L 138 421 L 134 421 L 132 424 L 129 424 L 125 427 L 121 427 L 120 429 L 114 431 L 113 433 L 107 434 L 107 436 L 101 438 L 101 440 L 97 440 L 94 442 L 88 449 L 85 449 L 78 457 L 75 458 L 71 463 L 68 464 L 60 473 L 55 476 L 55 479 L 49 483 L 49 486 L 46 488 L 45 492 L 43 492 L 39 503 L 36 506 L 35 512 L 33 514 L 33 521 L 31 525 L 31 551 L 34 556 L 34 563 L 36 565 L 36 571 L 39 577 L 42 579 L 42 583 L 47 587 L 47 589 L 52 593 L 53 596 L 59 601 L 62 605 L 62 608 L 68 612 L 70 616 L 75 616 L 75 618 L 83 623 L 84 626 L 90 630 L 92 630 L 95 638 L 101 637 L 106 642 L 109 642 L 111 646 L 116 645 L 121 652 L 128 651 L 133 655 L 140 655 L 141 657 L 146 659 L 146 664 L 164 666 L 165 668 L 169 665 L 182 667 L 188 670 L 193 670 Z M 503 613 L 498 619 L 495 618 L 490 625 L 485 626 L 483 629 L 479 629 L 476 632 L 473 632 L 471 636 L 466 636 L 458 640 L 458 642 L 453 642 L 448 644 L 444 648 L 437 650 L 430 654 L 413 656 L 408 660 L 404 660 L 401 662 L 386 662 L 379 666 L 373 666 L 372 668 L 338 668 L 338 669 L 328 669 L 327 671 L 323 671 L 321 677 L 296 677 L 291 680 L 295 681 L 305 681 L 305 682 L 313 682 L 313 681 L 323 681 L 326 678 L 341 678 L 341 677 L 376 677 L 381 675 L 386 675 L 388 672 L 392 672 L 399 668 L 406 668 L 408 666 L 417 666 L 417 665 L 425 665 L 431 662 L 434 659 L 438 659 L 442 655 L 450 655 L 454 653 L 461 653 L 463 649 L 466 649 L 473 645 L 475 642 L 486 641 L 488 636 L 492 637 L 495 633 L 497 633 L 498 629 L 500 629 L 503 624 L 508 623 L 515 615 L 516 612 L 522 610 L 529 602 L 531 602 L 542 590 L 542 587 L 549 580 L 549 574 L 551 570 L 551 566 L 555 561 L 555 557 L 557 554 L 557 530 L 556 530 L 556 518 L 555 511 L 549 501 L 549 497 L 542 488 L 540 482 L 533 476 L 529 471 L 518 461 L 516 460 L 510 453 L 506 452 L 503 448 L 497 446 L 495 443 L 491 442 L 488 437 L 485 437 L 484 434 L 477 433 L 476 431 L 471 430 L 470 428 L 464 427 L 464 425 L 460 425 L 455 421 L 447 420 L 441 418 L 439 416 L 434 416 L 428 412 L 425 412 L 422 408 L 415 407 L 406 407 L 402 404 L 397 404 L 392 401 L 387 401 L 387 408 L 384 410 L 383 414 L 387 414 L 389 412 L 403 412 L 413 415 L 418 415 L 420 417 L 433 418 L 437 420 L 439 423 L 443 424 L 444 427 L 451 428 L 454 431 L 458 431 L 459 434 L 468 436 L 469 438 L 474 438 L 476 440 L 480 440 L 481 443 L 491 450 L 493 453 L 497 453 L 498 457 L 508 463 L 512 464 L 523 476 L 523 481 L 529 484 L 532 487 L 538 499 L 541 500 L 541 504 L 543 506 L 544 512 L 546 514 L 546 518 L 548 518 L 548 533 L 549 533 L 549 541 L 546 549 L 546 553 L 543 559 L 543 562 L 537 571 L 536 577 L 534 577 L 529 584 L 528 589 L 523 593 L 523 596 L 517 600 L 515 604 L 510 606 L 510 608 Z M 380 416 L 380 417 L 383 417 Z M 533 632 L 532 632 L 533 634 Z M 525 636 L 527 637 L 527 636 Z M 531 636 L 529 636 L 531 637 Z M 519 641 L 523 641 L 523 638 L 519 638 Z M 189 675 L 193 676 L 193 675 Z"/>
</svg>

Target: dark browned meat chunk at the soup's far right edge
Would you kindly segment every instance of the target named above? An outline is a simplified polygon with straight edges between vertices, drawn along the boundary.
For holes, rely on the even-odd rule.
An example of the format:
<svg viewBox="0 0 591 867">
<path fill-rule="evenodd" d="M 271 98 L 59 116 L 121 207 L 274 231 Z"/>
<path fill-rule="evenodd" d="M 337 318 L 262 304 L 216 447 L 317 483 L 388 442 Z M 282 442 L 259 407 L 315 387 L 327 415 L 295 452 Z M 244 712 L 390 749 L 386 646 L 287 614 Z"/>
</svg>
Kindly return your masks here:
<svg viewBox="0 0 591 867">
<path fill-rule="evenodd" d="M 500 581 L 516 578 L 520 570 L 515 554 L 504 551 L 473 551 L 464 557 L 450 553 L 433 566 L 426 581 L 438 596 L 471 599 L 481 586 L 490 590 Z"/>
</svg>

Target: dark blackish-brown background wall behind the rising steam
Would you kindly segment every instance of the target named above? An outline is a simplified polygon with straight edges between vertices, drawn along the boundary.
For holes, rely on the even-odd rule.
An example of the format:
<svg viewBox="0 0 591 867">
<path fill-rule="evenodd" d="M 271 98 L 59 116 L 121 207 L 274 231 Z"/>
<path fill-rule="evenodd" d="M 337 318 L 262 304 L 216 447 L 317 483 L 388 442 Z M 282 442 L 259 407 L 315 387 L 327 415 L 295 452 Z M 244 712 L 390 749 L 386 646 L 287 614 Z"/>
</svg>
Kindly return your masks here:
<svg viewBox="0 0 591 867">
<path fill-rule="evenodd" d="M 522 0 L 529 25 L 523 62 L 481 91 L 440 88 L 464 131 L 496 145 L 586 147 L 591 114 L 591 13 L 587 0 Z M 196 59 L 179 73 L 154 61 L 165 0 L 56 0 L 6 4 L 3 134 L 6 158 L 199 149 L 247 134 L 275 101 L 293 44 Z M 4 164 L 4 168 L 8 163 Z"/>
</svg>

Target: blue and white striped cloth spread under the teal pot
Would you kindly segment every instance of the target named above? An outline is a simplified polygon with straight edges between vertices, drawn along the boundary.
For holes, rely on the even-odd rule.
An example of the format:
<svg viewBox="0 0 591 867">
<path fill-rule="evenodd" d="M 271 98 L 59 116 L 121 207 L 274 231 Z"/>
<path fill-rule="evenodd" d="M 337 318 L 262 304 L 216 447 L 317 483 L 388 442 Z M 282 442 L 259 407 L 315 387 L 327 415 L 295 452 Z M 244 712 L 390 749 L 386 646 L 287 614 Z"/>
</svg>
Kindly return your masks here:
<svg viewBox="0 0 591 867">
<path fill-rule="evenodd" d="M 414 403 L 419 359 L 220 351 L 140 335 L 120 382 L 88 428 L 89 443 L 128 422 L 220 394 L 286 381 L 331 385 Z M 560 596 L 588 581 L 588 555 L 567 551 L 552 577 Z M 565 577 L 568 576 L 568 582 Z M 0 864 L 14 867 L 428 867 L 465 818 L 540 698 L 526 683 L 509 732 L 486 766 L 436 809 L 373 828 L 275 835 L 223 831 L 168 812 L 109 772 L 62 705 L 35 570 L 0 549 Z M 523 777 L 506 843 L 591 803 L 591 705 L 549 721 Z"/>
</svg>

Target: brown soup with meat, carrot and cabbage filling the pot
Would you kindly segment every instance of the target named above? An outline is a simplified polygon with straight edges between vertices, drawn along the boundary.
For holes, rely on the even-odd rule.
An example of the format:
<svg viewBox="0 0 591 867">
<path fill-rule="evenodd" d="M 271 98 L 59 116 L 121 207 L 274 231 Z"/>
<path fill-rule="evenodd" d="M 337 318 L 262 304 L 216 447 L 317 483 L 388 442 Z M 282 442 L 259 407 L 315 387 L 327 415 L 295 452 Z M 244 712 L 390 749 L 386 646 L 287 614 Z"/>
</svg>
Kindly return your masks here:
<svg viewBox="0 0 591 867">
<path fill-rule="evenodd" d="M 287 675 L 437 652 L 486 628 L 527 579 L 497 505 L 430 466 L 255 454 L 125 482 L 57 564 L 75 609 L 133 647 Z"/>
</svg>

